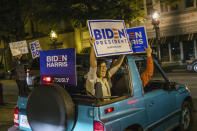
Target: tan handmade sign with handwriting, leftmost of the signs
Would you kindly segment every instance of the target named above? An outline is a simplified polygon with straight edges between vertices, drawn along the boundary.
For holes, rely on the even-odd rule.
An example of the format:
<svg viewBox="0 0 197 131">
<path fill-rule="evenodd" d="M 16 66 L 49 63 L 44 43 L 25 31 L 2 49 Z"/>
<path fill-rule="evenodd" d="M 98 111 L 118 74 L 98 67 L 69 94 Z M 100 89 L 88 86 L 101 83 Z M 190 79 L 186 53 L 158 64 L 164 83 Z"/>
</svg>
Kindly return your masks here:
<svg viewBox="0 0 197 131">
<path fill-rule="evenodd" d="M 26 40 L 11 42 L 9 45 L 13 56 L 27 54 L 29 52 Z"/>
</svg>

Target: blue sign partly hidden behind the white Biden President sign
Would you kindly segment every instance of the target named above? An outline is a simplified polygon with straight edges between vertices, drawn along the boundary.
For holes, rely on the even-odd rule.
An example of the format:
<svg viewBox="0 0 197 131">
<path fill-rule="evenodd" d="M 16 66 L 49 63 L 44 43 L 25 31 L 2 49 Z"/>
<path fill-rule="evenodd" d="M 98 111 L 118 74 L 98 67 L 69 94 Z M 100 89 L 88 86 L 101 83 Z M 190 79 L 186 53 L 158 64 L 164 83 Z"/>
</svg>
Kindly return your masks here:
<svg viewBox="0 0 197 131">
<path fill-rule="evenodd" d="M 132 44 L 133 52 L 144 52 L 144 47 L 148 47 L 145 27 L 135 27 L 127 29 L 129 41 Z"/>
</svg>

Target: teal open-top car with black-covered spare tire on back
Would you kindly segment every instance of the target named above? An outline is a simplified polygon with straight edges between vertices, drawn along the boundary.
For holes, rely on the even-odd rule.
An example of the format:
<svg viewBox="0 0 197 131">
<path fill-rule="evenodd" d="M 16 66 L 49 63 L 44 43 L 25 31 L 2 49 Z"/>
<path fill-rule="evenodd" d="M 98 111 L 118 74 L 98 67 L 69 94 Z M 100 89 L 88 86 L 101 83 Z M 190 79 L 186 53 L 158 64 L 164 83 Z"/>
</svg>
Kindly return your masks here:
<svg viewBox="0 0 197 131">
<path fill-rule="evenodd" d="M 114 57 L 106 57 L 108 66 Z M 140 73 L 146 56 L 127 55 L 114 74 L 111 96 L 98 98 L 85 90 L 89 56 L 77 56 L 77 86 L 45 79 L 48 83 L 34 88 L 30 96 L 18 97 L 9 130 L 163 131 L 178 126 L 188 131 L 193 109 L 190 90 L 171 82 L 153 60 L 154 75 L 143 87 Z"/>
</svg>

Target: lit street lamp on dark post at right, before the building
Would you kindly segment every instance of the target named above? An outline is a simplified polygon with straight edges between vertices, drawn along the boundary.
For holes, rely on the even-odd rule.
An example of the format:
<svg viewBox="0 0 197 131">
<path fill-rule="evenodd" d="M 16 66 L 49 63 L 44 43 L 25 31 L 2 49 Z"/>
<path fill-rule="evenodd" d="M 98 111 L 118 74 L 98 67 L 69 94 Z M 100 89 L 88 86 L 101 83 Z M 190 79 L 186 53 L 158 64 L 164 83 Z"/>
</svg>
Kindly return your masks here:
<svg viewBox="0 0 197 131">
<path fill-rule="evenodd" d="M 152 25 L 154 26 L 155 34 L 156 34 L 156 47 L 157 47 L 157 59 L 160 62 L 161 56 L 160 56 L 160 29 L 159 29 L 159 14 L 158 12 L 154 12 L 152 15 Z"/>
</svg>

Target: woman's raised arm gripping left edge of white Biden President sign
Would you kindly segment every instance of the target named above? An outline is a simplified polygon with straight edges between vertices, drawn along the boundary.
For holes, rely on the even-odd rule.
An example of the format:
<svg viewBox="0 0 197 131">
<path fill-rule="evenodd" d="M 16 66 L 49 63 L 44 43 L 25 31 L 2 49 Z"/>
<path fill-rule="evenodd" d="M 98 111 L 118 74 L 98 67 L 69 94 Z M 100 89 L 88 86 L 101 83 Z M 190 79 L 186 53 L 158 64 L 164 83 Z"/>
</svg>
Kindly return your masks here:
<svg viewBox="0 0 197 131">
<path fill-rule="evenodd" d="M 96 60 L 96 56 L 95 56 L 95 53 L 94 53 L 94 47 L 93 47 L 94 42 L 95 42 L 95 39 L 91 38 L 90 39 L 90 46 L 91 46 L 91 49 L 90 49 L 90 67 L 95 69 L 97 67 L 97 60 Z"/>
</svg>

